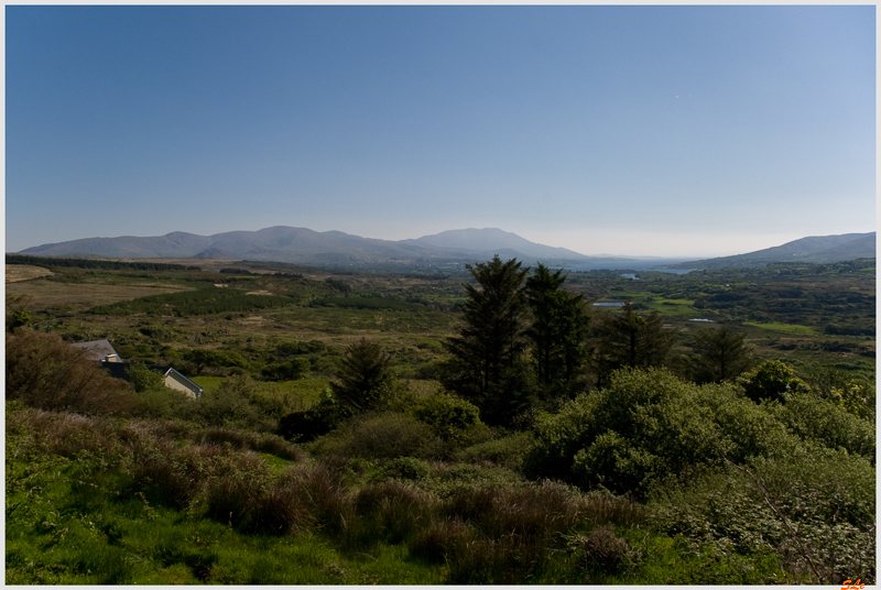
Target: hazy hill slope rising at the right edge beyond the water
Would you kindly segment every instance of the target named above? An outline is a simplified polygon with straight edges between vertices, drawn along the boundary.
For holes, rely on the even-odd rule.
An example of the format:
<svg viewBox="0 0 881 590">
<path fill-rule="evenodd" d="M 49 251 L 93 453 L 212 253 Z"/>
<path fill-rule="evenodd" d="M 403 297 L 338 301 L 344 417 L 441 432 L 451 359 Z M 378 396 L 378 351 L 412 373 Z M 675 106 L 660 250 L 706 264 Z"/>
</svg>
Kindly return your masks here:
<svg viewBox="0 0 881 590">
<path fill-rule="evenodd" d="M 746 254 L 683 262 L 682 264 L 676 264 L 675 267 L 762 266 L 770 262 L 812 262 L 822 264 L 858 258 L 875 258 L 874 231 L 870 233 L 845 233 L 842 236 L 813 236 Z"/>
</svg>

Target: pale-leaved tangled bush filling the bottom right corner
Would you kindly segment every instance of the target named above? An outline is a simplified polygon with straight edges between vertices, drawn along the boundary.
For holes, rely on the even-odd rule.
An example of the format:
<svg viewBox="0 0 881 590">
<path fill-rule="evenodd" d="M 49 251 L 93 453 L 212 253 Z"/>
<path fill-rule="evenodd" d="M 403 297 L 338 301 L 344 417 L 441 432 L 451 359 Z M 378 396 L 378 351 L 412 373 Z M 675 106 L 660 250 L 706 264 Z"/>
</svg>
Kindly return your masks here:
<svg viewBox="0 0 881 590">
<path fill-rule="evenodd" d="M 874 469 L 860 457 L 800 449 L 659 491 L 662 531 L 694 550 L 771 556 L 790 582 L 875 581 Z"/>
</svg>

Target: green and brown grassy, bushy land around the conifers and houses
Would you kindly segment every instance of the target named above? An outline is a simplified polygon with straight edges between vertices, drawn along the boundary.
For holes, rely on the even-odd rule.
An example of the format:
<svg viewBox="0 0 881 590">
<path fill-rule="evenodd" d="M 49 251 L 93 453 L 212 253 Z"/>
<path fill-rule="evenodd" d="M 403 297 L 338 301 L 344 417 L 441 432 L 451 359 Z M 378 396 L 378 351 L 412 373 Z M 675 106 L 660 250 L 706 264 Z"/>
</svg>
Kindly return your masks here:
<svg viewBox="0 0 881 590">
<path fill-rule="evenodd" d="M 8 401 L 7 583 L 837 584 L 839 573 L 873 576 L 874 418 L 848 413 L 830 393 L 848 380 L 874 382 L 873 261 L 638 280 L 570 273 L 568 288 L 590 302 L 630 299 L 638 314 L 661 314 L 673 372 L 694 353 L 695 335 L 727 326 L 757 361 L 783 360 L 828 391 L 755 404 L 735 384 L 637 373 L 510 429 L 479 420 L 450 429 L 426 409 L 457 400 L 437 378 L 444 340 L 461 326 L 465 275 L 174 262 L 181 269 L 46 265 L 51 275 L 8 265 L 8 323 L 29 317 L 29 334 L 66 342 L 108 338 L 124 359 L 172 364 L 205 394 L 131 392 L 115 417 Z M 244 298 L 211 295 L 221 291 Z M 251 305 L 248 294 L 278 298 L 230 307 Z M 129 307 L 95 309 L 111 304 Z M 283 439 L 282 418 L 318 405 L 361 338 L 391 356 L 396 405 L 314 440 Z M 202 363 L 195 353 L 205 351 L 215 360 Z M 290 363 L 302 376 L 274 381 L 271 370 Z"/>
</svg>

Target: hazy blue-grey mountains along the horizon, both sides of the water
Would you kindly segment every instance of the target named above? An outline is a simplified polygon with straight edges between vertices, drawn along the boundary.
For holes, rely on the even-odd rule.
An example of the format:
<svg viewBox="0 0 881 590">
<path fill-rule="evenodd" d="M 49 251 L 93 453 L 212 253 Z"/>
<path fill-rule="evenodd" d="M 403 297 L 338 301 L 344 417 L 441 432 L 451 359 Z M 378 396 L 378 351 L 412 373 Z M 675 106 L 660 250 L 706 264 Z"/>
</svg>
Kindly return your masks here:
<svg viewBox="0 0 881 590">
<path fill-rule="evenodd" d="M 313 231 L 276 226 L 258 231 L 229 231 L 197 236 L 175 231 L 166 236 L 139 238 L 86 238 L 28 248 L 20 254 L 42 256 L 99 256 L 116 259 L 204 258 L 289 262 L 323 266 L 406 266 L 450 262 L 475 262 L 518 258 L 526 264 L 548 266 L 626 267 L 650 256 L 587 256 L 565 248 L 531 242 L 496 228 L 459 229 L 413 240 L 377 240 L 341 231 Z M 874 258 L 875 234 L 812 237 L 747 254 L 683 262 L 671 267 L 717 269 L 755 266 L 769 262 L 838 262 Z M 682 261 L 682 259 L 679 259 Z M 657 263 L 662 263 L 657 260 Z"/>
</svg>

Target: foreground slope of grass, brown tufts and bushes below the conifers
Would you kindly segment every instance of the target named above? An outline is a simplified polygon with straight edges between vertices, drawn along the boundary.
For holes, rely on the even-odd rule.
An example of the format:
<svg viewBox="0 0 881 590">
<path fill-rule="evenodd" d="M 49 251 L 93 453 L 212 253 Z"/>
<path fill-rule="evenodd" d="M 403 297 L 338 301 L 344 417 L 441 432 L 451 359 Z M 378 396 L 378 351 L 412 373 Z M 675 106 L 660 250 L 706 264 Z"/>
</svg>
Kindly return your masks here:
<svg viewBox="0 0 881 590">
<path fill-rule="evenodd" d="M 265 383 L 110 408 L 63 346 L 7 340 L 8 583 L 874 581 L 873 414 L 792 375 L 621 371 L 521 430 L 399 383 L 297 444 Z"/>
</svg>

